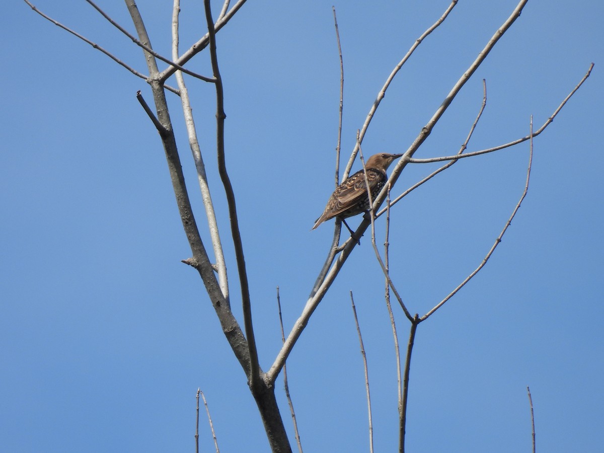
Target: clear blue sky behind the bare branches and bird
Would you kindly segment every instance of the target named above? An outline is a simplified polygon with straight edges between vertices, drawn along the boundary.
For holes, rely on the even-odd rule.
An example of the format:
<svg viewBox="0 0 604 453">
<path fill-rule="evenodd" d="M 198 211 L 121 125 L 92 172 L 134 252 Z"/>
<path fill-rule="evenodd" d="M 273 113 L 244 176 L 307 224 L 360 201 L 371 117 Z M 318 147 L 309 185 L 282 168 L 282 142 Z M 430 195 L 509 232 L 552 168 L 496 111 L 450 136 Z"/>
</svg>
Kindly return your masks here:
<svg viewBox="0 0 604 453">
<path fill-rule="evenodd" d="M 35 4 L 145 70 L 140 50 L 89 5 L 56 3 Z M 126 7 L 106 3 L 133 30 Z M 204 33 L 201 2 L 191 3 L 181 5 L 182 50 Z M 448 4 L 335 2 L 345 71 L 342 155 L 394 65 Z M 169 55 L 171 2 L 138 5 L 153 47 Z M 365 155 L 406 150 L 515 5 L 460 1 L 394 80 L 368 129 Z M 309 231 L 333 190 L 339 63 L 331 6 L 249 0 L 217 37 L 227 164 L 265 369 L 280 348 L 275 288 L 288 330 L 332 237 L 332 222 Z M 410 451 L 529 451 L 527 385 L 540 451 L 601 448 L 603 13 L 596 1 L 529 1 L 416 153 L 457 152 L 480 108 L 482 79 L 487 106 L 471 151 L 527 135 L 530 115 L 541 126 L 596 63 L 536 138 L 527 198 L 489 263 L 417 330 Z M 0 17 L 2 449 L 192 451 L 201 387 L 221 451 L 268 451 L 199 276 L 180 262 L 190 249 L 161 142 L 135 98 L 140 89 L 152 100 L 146 83 L 24 2 L 5 2 Z M 188 67 L 209 75 L 208 55 Z M 191 79 L 188 88 L 226 239 L 214 89 Z M 179 100 L 170 95 L 169 103 L 207 241 Z M 431 309 L 480 264 L 518 202 L 527 161 L 527 144 L 464 159 L 396 205 L 391 273 L 411 312 Z M 434 168 L 408 165 L 393 192 Z M 230 246 L 226 259 L 241 319 Z M 368 451 L 350 291 L 368 355 L 376 451 L 396 449 L 393 341 L 383 275 L 365 236 L 288 360 L 309 452 Z M 408 322 L 394 310 L 406 344 Z M 201 448 L 210 451 L 201 420 Z"/>
</svg>

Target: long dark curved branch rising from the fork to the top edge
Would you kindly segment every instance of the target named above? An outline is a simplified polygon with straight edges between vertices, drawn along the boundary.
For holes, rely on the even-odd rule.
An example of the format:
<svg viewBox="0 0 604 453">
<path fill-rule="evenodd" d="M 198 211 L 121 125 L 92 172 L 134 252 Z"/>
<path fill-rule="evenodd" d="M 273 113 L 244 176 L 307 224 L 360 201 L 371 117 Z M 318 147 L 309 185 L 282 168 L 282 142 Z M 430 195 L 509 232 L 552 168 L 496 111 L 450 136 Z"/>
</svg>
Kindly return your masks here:
<svg viewBox="0 0 604 453">
<path fill-rule="evenodd" d="M 204 0 L 205 18 L 210 36 L 210 57 L 212 63 L 212 71 L 214 79 L 216 79 L 216 153 L 218 157 L 218 171 L 220 179 L 225 189 L 226 202 L 228 204 L 229 217 L 231 220 L 231 236 L 233 237 L 233 246 L 235 248 L 235 257 L 237 260 L 237 271 L 239 272 L 239 284 L 241 287 L 241 302 L 243 309 L 243 324 L 245 328 L 245 336 L 248 342 L 250 369 L 249 369 L 249 384 L 252 387 L 252 392 L 260 379 L 258 352 L 256 350 L 256 341 L 254 338 L 254 326 L 252 324 L 252 307 L 249 298 L 248 273 L 245 269 L 245 256 L 243 255 L 243 243 L 239 231 L 239 220 L 237 220 L 237 207 L 235 203 L 235 194 L 233 185 L 226 172 L 225 161 L 225 111 L 224 111 L 224 92 L 222 87 L 222 77 L 218 68 L 218 56 L 216 53 L 216 31 L 214 30 L 214 22 L 212 20 L 212 12 L 210 9 L 210 0 Z"/>
</svg>

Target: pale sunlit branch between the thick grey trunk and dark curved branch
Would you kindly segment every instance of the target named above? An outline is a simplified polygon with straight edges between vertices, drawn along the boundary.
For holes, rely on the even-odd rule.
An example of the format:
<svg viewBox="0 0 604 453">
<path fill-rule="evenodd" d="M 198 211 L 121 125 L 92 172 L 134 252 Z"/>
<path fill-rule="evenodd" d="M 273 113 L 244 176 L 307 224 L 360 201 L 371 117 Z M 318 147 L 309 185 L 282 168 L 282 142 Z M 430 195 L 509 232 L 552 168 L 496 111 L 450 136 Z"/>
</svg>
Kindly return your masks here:
<svg viewBox="0 0 604 453">
<path fill-rule="evenodd" d="M 178 56 L 178 14 L 180 11 L 180 0 L 174 0 L 174 7 L 172 11 L 172 56 L 176 58 Z M 216 221 L 216 213 L 214 213 L 214 204 L 210 195 L 210 186 L 208 185 L 208 179 L 205 174 L 204 159 L 201 155 L 201 149 L 199 148 L 199 140 L 197 137 L 197 131 L 195 129 L 195 122 L 193 118 L 193 109 L 191 109 L 190 98 L 188 96 L 188 90 L 185 86 L 184 77 L 182 77 L 181 71 L 175 72 L 176 83 L 181 92 L 181 103 L 182 112 L 184 114 L 185 125 L 187 126 L 187 135 L 189 140 L 189 146 L 191 147 L 191 153 L 193 153 L 193 161 L 195 162 L 195 169 L 197 170 L 199 188 L 201 190 L 201 198 L 204 202 L 205 216 L 208 220 L 208 229 L 210 230 L 210 237 L 212 246 L 214 249 L 214 257 L 216 258 L 216 270 L 218 273 L 218 281 L 220 283 L 220 289 L 225 298 L 227 304 L 229 302 L 229 290 L 228 290 L 228 277 L 226 275 L 226 263 L 225 257 L 222 250 L 222 242 L 220 241 L 220 233 L 218 230 L 218 223 Z"/>
</svg>

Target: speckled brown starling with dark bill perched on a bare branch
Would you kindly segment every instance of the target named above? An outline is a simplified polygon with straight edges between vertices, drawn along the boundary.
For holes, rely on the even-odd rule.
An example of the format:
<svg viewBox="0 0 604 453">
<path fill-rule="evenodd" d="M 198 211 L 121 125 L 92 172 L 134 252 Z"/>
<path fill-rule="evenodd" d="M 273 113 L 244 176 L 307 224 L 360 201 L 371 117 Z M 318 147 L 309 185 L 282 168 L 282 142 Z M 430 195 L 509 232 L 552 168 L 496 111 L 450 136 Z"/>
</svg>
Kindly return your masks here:
<svg viewBox="0 0 604 453">
<path fill-rule="evenodd" d="M 379 194 L 380 190 L 382 190 L 386 181 L 388 181 L 386 169 L 394 159 L 400 156 L 402 154 L 381 153 L 374 154 L 367 160 L 365 170 L 367 170 L 372 201 Z M 314 230 L 321 223 L 325 222 L 325 220 L 333 219 L 333 217 L 338 217 L 343 221 L 348 217 L 367 212 L 369 208 L 365 172 L 360 170 L 336 187 L 336 190 L 333 191 L 332 196 L 330 196 L 327 202 L 325 211 L 321 217 L 316 219 L 315 226 L 312 229 Z M 344 225 L 346 225 L 346 222 L 344 222 Z M 346 227 L 350 230 L 348 225 Z M 350 233 L 352 234 L 352 230 L 350 230 Z"/>
</svg>

